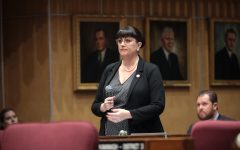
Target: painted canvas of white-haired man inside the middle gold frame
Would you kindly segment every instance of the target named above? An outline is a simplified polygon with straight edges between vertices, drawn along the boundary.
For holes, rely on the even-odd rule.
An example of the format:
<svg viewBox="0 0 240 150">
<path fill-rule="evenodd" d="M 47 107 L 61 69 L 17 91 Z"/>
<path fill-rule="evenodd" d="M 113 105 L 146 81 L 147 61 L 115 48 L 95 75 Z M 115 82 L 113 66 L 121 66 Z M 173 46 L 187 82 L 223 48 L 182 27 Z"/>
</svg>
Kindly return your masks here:
<svg viewBox="0 0 240 150">
<path fill-rule="evenodd" d="M 181 26 L 182 31 L 178 30 L 177 26 Z M 150 62 L 159 67 L 163 80 L 186 80 L 186 22 L 152 21 L 150 38 L 150 43 L 154 43 L 150 47 Z"/>
</svg>

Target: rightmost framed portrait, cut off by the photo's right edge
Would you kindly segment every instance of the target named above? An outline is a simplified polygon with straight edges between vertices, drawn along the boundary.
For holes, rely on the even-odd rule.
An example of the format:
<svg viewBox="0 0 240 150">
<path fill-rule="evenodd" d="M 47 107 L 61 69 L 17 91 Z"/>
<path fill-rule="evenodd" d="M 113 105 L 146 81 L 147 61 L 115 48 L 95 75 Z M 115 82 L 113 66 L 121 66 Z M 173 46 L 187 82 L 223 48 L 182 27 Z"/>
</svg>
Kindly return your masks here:
<svg viewBox="0 0 240 150">
<path fill-rule="evenodd" d="M 240 21 L 210 23 L 210 82 L 213 86 L 240 85 Z"/>
</svg>

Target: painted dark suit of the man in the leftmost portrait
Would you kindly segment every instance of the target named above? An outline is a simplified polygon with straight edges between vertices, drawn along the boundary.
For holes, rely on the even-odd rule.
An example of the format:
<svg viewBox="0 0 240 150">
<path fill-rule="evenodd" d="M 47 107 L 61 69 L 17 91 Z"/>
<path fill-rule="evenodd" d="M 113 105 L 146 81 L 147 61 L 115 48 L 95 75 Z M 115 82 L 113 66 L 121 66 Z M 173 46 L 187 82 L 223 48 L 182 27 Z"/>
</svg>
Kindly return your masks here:
<svg viewBox="0 0 240 150">
<path fill-rule="evenodd" d="M 93 52 L 87 59 L 87 62 L 82 65 L 82 82 L 99 82 L 101 75 L 107 65 L 119 60 L 118 51 L 106 49 L 105 56 L 102 62 L 99 61 L 99 52 Z"/>
</svg>

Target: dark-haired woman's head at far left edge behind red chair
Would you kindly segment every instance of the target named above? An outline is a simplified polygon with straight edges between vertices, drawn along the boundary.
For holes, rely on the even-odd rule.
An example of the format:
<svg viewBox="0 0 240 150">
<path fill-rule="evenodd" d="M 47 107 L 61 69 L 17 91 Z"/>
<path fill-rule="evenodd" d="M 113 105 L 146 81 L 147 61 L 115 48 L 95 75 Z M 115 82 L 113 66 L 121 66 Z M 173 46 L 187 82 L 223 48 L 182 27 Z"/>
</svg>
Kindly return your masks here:
<svg viewBox="0 0 240 150">
<path fill-rule="evenodd" d="M 18 117 L 12 108 L 4 108 L 0 113 L 0 121 L 0 128 L 3 130 L 11 124 L 18 123 Z"/>
</svg>

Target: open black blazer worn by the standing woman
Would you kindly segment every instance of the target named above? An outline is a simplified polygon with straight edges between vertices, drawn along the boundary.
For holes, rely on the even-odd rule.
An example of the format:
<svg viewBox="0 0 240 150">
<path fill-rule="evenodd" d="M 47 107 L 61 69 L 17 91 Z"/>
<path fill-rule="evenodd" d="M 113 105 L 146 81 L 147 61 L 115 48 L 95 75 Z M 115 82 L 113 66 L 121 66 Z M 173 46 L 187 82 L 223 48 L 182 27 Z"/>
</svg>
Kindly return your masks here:
<svg viewBox="0 0 240 150">
<path fill-rule="evenodd" d="M 115 73 L 121 61 L 109 65 L 101 78 L 96 98 L 92 104 L 92 112 L 101 118 L 100 135 L 105 135 L 106 113 L 100 111 L 100 105 L 106 98 L 105 88 Z M 159 115 L 165 107 L 165 93 L 161 74 L 156 65 L 139 59 L 136 76 L 133 78 L 128 92 L 128 101 L 122 108 L 129 110 L 132 119 L 129 119 L 129 132 L 154 133 L 163 132 Z"/>
</svg>

